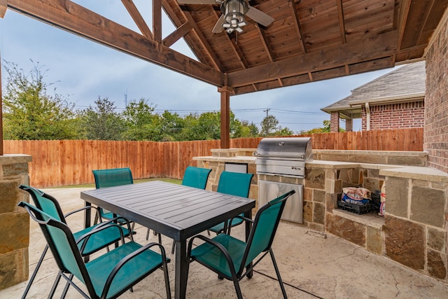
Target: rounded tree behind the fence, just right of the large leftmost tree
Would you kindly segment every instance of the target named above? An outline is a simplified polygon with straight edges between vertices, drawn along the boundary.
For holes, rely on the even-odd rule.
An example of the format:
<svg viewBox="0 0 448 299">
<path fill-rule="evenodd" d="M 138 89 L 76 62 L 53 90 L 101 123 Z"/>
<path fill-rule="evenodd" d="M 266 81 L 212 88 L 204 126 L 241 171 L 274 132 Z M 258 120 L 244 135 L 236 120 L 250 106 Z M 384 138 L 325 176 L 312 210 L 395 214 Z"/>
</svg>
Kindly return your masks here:
<svg viewBox="0 0 448 299">
<path fill-rule="evenodd" d="M 125 122 L 116 113 L 116 106 L 109 98 L 101 98 L 94 102 L 96 107 L 80 111 L 84 137 L 91 140 L 121 140 L 125 132 Z"/>
</svg>

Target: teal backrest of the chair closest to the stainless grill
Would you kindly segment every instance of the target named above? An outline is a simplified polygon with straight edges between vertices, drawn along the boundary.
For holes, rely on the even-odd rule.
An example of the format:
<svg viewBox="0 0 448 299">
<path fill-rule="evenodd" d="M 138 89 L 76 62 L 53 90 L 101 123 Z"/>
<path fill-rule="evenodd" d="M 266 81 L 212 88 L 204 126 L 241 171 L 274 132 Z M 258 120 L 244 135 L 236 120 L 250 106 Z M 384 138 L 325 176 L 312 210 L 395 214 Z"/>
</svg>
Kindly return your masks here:
<svg viewBox="0 0 448 299">
<path fill-rule="evenodd" d="M 223 172 L 219 177 L 218 191 L 229 195 L 248 197 L 253 174 Z"/>
</svg>

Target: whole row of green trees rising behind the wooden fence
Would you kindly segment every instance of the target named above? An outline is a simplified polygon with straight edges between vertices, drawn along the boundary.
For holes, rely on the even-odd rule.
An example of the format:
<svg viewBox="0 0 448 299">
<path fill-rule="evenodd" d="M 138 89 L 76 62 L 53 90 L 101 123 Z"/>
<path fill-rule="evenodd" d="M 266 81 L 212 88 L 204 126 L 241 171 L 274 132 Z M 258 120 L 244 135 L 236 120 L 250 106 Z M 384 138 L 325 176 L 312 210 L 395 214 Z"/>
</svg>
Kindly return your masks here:
<svg viewBox="0 0 448 299">
<path fill-rule="evenodd" d="M 96 139 L 134 141 L 192 141 L 221 139 L 221 113 L 211 111 L 179 116 L 155 113 L 153 104 L 141 98 L 132 100 L 122 113 L 109 98 L 98 97 L 94 106 L 73 111 L 55 92 L 48 95 L 45 72 L 34 64 L 25 74 L 16 64 L 6 62 L 8 74 L 3 92 L 3 127 L 6 139 Z M 279 126 L 274 116 L 257 125 L 238 120 L 230 111 L 230 138 L 288 136 L 293 132 Z"/>
</svg>

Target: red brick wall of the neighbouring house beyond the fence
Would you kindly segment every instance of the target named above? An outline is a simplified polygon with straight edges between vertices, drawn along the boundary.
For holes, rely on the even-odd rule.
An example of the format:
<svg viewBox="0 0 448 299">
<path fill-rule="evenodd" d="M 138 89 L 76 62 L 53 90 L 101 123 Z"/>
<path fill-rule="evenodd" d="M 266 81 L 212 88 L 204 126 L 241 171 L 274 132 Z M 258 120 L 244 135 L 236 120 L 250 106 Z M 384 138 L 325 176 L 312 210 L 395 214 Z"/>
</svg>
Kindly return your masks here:
<svg viewBox="0 0 448 299">
<path fill-rule="evenodd" d="M 361 130 L 367 130 L 367 112 L 362 111 Z M 370 130 L 423 127 L 424 102 L 370 106 Z"/>
</svg>

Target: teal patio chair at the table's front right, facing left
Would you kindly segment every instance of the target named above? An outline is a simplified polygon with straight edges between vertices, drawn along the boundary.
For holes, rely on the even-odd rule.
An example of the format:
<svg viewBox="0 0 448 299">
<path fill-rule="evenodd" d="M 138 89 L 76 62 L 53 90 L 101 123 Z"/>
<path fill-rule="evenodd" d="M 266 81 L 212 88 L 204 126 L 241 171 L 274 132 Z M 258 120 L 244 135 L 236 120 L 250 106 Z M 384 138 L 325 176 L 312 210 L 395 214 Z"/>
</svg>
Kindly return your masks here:
<svg viewBox="0 0 448 299">
<path fill-rule="evenodd" d="M 279 267 L 272 251 L 276 230 L 279 226 L 281 213 L 285 207 L 286 200 L 295 193 L 288 193 L 263 205 L 255 215 L 255 219 L 244 218 L 244 221 L 253 223 L 247 242 L 243 242 L 227 234 L 216 235 L 209 239 L 203 235 L 196 235 L 188 242 L 187 260 L 189 263 L 197 261 L 201 265 L 216 272 L 218 277 L 232 280 L 237 292 L 237 298 L 243 298 L 239 281 L 245 276 L 251 277 L 253 267 L 257 265 L 267 253 L 272 258 L 277 279 L 279 280 L 283 298 L 287 298 L 283 281 L 281 280 Z M 202 239 L 204 243 L 192 250 L 195 239 Z M 255 258 L 263 253 L 255 262 Z M 244 268 L 247 267 L 244 272 Z"/>
</svg>

